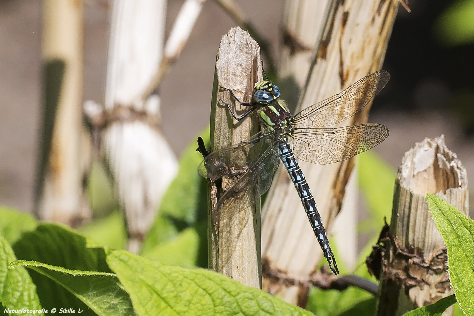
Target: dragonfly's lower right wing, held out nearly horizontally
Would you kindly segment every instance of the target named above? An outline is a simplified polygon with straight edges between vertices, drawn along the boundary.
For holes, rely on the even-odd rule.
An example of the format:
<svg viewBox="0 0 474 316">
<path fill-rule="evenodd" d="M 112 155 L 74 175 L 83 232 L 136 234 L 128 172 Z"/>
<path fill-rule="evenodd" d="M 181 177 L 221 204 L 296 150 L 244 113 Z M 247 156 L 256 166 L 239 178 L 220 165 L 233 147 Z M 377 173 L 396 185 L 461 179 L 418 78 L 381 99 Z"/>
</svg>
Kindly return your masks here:
<svg viewBox="0 0 474 316">
<path fill-rule="evenodd" d="M 292 133 L 293 153 L 310 163 L 337 163 L 382 143 L 388 135 L 387 127 L 374 123 L 303 128 Z"/>
</svg>

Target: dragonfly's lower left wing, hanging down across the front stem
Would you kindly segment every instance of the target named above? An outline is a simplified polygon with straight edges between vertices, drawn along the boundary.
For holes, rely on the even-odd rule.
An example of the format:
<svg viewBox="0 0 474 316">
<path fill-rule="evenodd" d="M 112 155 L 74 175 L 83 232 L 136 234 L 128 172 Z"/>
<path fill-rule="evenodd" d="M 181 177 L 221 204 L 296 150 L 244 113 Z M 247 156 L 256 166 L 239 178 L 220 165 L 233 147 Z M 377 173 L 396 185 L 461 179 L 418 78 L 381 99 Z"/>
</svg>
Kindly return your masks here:
<svg viewBox="0 0 474 316">
<path fill-rule="evenodd" d="M 212 214 L 215 221 L 227 219 L 255 204 L 271 186 L 278 168 L 277 141 L 265 138 L 264 152 L 250 169 L 219 199 Z"/>
</svg>

